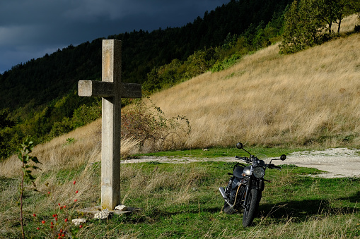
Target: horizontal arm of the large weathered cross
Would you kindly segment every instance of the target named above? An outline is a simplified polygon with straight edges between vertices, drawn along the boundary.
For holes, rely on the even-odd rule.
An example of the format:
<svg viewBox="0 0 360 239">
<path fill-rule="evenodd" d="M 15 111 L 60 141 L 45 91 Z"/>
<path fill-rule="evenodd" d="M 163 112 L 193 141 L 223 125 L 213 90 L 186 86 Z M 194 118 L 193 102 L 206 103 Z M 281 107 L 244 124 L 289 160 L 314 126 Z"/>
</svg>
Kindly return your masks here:
<svg viewBox="0 0 360 239">
<path fill-rule="evenodd" d="M 80 97 L 114 97 L 114 82 L 97 80 L 79 80 Z M 120 83 L 120 97 L 141 98 L 141 85 L 134 83 Z"/>
</svg>

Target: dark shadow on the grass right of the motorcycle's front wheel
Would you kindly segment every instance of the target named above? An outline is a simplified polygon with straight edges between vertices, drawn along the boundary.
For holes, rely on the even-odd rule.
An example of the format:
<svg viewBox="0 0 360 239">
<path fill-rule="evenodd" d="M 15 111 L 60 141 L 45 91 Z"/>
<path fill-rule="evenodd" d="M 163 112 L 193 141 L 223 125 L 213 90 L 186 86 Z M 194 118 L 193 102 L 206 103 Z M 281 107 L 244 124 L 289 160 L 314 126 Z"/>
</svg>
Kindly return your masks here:
<svg viewBox="0 0 360 239">
<path fill-rule="evenodd" d="M 348 200 L 349 202 L 360 202 L 360 191 L 350 197 L 339 197 L 334 201 Z M 330 200 L 293 200 L 279 202 L 277 204 L 260 204 L 259 215 L 273 219 L 292 218 L 303 221 L 309 216 L 319 214 L 353 214 L 359 212 L 356 207 L 332 207 Z"/>
</svg>

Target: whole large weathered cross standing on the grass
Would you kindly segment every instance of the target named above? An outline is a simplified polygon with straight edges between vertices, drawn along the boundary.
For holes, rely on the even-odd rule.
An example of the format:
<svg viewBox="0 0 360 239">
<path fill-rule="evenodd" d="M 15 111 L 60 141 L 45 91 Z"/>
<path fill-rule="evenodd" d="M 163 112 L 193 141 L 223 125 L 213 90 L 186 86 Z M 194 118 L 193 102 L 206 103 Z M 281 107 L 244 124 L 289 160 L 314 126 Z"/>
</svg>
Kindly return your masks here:
<svg viewBox="0 0 360 239">
<path fill-rule="evenodd" d="M 103 97 L 101 207 L 120 204 L 121 98 L 141 98 L 141 85 L 121 82 L 121 41 L 103 39 L 102 81 L 80 80 L 81 97 Z"/>
</svg>

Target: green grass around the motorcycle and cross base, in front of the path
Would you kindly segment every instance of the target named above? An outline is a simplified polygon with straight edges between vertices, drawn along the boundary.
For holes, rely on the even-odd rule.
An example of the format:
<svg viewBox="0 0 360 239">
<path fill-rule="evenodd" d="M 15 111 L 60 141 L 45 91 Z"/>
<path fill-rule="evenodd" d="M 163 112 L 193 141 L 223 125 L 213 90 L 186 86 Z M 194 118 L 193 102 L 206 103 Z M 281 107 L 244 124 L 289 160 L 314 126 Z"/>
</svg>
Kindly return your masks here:
<svg viewBox="0 0 360 239">
<path fill-rule="evenodd" d="M 210 149 L 211 150 L 211 149 Z M 219 152 L 221 153 L 221 149 Z M 276 153 L 276 152 L 275 152 Z M 216 153 L 217 154 L 217 153 Z M 313 178 L 315 168 L 284 166 L 267 170 L 254 226 L 242 227 L 242 214 L 221 212 L 219 186 L 226 186 L 233 163 L 202 161 L 191 164 L 125 164 L 122 166 L 124 204 L 141 211 L 100 221 L 88 218 L 83 228 L 72 227 L 77 238 L 359 238 L 360 178 Z M 91 171 L 98 177 L 100 167 Z M 76 175 L 81 175 L 79 170 Z M 59 171 L 68 181 L 69 171 Z M 19 238 L 16 205 L 17 179 L 0 178 L 0 238 Z M 65 183 L 66 184 L 66 183 Z M 62 187 L 63 185 L 59 185 Z M 76 208 L 99 202 L 100 185 L 91 197 L 83 195 L 79 204 L 69 204 L 69 218 L 83 217 Z M 12 193 L 12 194 L 11 194 Z M 48 197 L 29 192 L 25 204 L 27 238 L 49 238 L 49 230 L 36 230 L 39 220 L 52 220 L 58 213 Z M 35 205 L 34 205 L 35 204 Z M 36 213 L 34 219 L 31 214 Z M 59 216 L 60 217 L 60 216 Z"/>
</svg>

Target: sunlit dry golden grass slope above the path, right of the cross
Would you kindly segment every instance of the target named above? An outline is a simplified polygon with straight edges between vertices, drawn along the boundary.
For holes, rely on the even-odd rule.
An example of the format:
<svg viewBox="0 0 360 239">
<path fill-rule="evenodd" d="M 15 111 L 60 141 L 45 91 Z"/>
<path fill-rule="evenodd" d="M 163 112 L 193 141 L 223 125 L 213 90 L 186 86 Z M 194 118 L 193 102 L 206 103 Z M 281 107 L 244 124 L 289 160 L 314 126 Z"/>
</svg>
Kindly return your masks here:
<svg viewBox="0 0 360 239">
<path fill-rule="evenodd" d="M 335 147 L 349 138 L 358 145 L 359 48 L 359 33 L 286 56 L 273 45 L 226 71 L 204 73 L 151 99 L 167 116 L 189 118 L 187 147 L 238 141 Z"/>
</svg>

